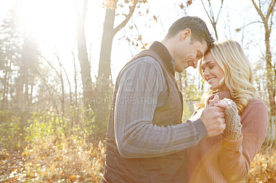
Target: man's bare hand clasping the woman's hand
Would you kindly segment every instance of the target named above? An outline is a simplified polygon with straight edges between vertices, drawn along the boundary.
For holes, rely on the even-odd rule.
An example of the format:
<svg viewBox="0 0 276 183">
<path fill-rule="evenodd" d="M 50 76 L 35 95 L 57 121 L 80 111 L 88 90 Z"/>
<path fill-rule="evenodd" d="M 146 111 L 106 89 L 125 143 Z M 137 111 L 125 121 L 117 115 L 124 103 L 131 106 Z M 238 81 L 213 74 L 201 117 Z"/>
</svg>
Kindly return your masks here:
<svg viewBox="0 0 276 183">
<path fill-rule="evenodd" d="M 219 135 L 226 128 L 224 111 L 228 108 L 228 104 L 217 104 L 217 102 L 219 102 L 219 96 L 215 95 L 215 98 L 209 101 L 200 117 L 206 126 L 208 137 Z"/>
</svg>

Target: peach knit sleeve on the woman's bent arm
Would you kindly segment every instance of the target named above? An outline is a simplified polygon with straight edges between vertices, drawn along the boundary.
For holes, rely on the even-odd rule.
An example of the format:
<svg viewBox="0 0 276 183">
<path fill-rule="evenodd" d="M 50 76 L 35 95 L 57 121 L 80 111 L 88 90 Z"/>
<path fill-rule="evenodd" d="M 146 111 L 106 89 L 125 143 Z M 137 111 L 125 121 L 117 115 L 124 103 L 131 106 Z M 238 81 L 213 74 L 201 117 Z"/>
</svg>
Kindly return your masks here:
<svg viewBox="0 0 276 183">
<path fill-rule="evenodd" d="M 223 137 L 219 166 L 227 182 L 240 182 L 248 175 L 250 163 L 266 137 L 267 115 L 266 106 L 257 100 L 244 110 L 242 136 L 235 140 Z"/>
</svg>

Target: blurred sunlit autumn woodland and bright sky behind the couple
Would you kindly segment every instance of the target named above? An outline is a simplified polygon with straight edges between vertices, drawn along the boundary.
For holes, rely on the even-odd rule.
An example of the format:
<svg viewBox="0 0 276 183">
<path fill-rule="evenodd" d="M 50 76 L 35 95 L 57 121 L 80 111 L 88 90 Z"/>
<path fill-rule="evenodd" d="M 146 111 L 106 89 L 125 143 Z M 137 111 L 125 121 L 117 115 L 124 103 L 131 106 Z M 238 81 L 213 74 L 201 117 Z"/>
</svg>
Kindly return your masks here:
<svg viewBox="0 0 276 183">
<path fill-rule="evenodd" d="M 0 182 L 100 182 L 119 70 L 186 15 L 242 45 L 269 127 L 244 182 L 276 182 L 275 3 L 0 0 Z M 185 122 L 208 86 L 194 68 L 176 79 Z"/>
</svg>

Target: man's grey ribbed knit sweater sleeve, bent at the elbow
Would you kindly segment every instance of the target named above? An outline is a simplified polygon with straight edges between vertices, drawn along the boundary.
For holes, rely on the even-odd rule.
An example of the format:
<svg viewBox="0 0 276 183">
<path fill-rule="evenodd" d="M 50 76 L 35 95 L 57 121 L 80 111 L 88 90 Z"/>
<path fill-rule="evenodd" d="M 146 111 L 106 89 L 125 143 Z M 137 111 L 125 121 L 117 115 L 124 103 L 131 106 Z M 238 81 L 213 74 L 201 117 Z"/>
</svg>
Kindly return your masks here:
<svg viewBox="0 0 276 183">
<path fill-rule="evenodd" d="M 157 100 L 166 88 L 160 68 L 151 57 L 143 57 L 121 75 L 115 103 L 115 138 L 122 157 L 168 155 L 207 136 L 201 119 L 176 126 L 152 124 Z"/>
</svg>

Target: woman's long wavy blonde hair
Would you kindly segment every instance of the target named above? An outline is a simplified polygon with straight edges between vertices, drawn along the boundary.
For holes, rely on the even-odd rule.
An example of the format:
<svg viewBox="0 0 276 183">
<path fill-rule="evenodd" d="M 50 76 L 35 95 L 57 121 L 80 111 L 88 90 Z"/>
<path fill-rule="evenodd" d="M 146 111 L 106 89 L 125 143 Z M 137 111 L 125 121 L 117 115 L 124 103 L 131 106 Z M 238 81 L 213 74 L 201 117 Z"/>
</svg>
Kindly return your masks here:
<svg viewBox="0 0 276 183">
<path fill-rule="evenodd" d="M 224 71 L 225 84 L 230 90 L 233 101 L 237 104 L 239 114 L 241 114 L 250 99 L 256 97 L 253 86 L 253 71 L 246 55 L 244 55 L 242 46 L 232 39 L 226 39 L 226 41 L 214 44 L 208 52 L 213 55 L 217 64 Z M 202 59 L 199 62 L 199 72 L 201 77 L 204 77 L 201 66 Z M 210 90 L 206 94 L 211 95 L 217 92 L 219 90 Z M 205 100 L 206 97 L 202 99 L 201 104 L 195 106 L 202 106 L 205 104 Z"/>
</svg>

